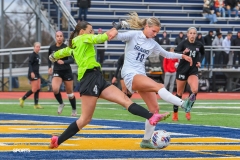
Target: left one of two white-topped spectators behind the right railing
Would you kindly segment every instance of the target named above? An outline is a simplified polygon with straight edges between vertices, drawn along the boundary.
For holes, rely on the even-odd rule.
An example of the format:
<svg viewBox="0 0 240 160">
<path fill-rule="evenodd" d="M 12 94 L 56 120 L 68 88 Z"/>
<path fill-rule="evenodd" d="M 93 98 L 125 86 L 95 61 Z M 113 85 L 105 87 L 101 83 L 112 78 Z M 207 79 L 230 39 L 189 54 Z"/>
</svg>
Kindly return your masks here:
<svg viewBox="0 0 240 160">
<path fill-rule="evenodd" d="M 214 49 L 219 49 L 218 51 L 215 51 L 215 58 L 214 58 L 214 68 L 220 68 L 220 65 L 222 63 L 221 57 L 222 57 L 222 33 L 217 33 L 217 36 L 212 42 L 212 46 L 214 46 Z"/>
</svg>

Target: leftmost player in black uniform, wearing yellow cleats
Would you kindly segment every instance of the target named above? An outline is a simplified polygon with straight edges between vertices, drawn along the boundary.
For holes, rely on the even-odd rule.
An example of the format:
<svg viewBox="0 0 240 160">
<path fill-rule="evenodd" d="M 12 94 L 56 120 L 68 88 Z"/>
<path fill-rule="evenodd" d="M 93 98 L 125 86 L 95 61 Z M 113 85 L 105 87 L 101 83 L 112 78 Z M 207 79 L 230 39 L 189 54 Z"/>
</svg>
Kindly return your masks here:
<svg viewBox="0 0 240 160">
<path fill-rule="evenodd" d="M 25 99 L 34 93 L 34 108 L 42 109 L 43 107 L 38 104 L 38 97 L 41 88 L 41 78 L 39 74 L 41 59 L 38 53 L 40 51 L 41 43 L 35 42 L 33 46 L 33 53 L 29 56 L 28 63 L 28 79 L 32 88 L 22 98 L 19 98 L 19 105 L 23 107 Z"/>
</svg>

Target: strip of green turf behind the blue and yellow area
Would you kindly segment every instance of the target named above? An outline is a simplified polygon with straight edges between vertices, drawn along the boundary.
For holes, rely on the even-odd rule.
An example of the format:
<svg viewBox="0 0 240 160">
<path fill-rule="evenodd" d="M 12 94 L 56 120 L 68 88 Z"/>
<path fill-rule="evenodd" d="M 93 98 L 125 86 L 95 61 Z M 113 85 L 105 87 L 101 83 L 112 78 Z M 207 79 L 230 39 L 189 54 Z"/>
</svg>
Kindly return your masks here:
<svg viewBox="0 0 240 160">
<path fill-rule="evenodd" d="M 146 107 L 142 100 L 133 100 Z M 65 108 L 61 116 L 70 116 L 71 106 L 68 100 L 64 100 Z M 27 99 L 25 105 L 21 108 L 18 100 L 1 100 L 0 112 L 2 113 L 20 113 L 20 114 L 38 114 L 38 115 L 57 115 L 58 104 L 55 100 L 40 100 L 44 109 L 34 109 L 33 100 Z M 171 112 L 172 105 L 159 100 L 160 112 Z M 78 114 L 80 115 L 81 102 L 77 100 Z M 179 109 L 179 121 L 173 122 L 171 117 L 165 120 L 166 123 L 195 124 L 240 128 L 240 101 L 239 100 L 198 100 L 191 112 L 192 119 L 187 121 L 184 111 Z M 96 119 L 114 119 L 129 121 L 145 121 L 141 117 L 131 115 L 118 104 L 105 100 L 99 100 L 93 118 Z"/>
</svg>

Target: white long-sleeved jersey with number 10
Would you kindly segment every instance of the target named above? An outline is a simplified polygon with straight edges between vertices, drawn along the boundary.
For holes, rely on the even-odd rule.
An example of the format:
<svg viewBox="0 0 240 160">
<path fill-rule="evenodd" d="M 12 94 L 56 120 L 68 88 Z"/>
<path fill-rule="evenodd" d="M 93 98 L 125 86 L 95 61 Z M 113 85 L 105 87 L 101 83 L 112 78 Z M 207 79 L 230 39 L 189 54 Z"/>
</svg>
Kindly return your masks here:
<svg viewBox="0 0 240 160">
<path fill-rule="evenodd" d="M 129 73 L 146 75 L 145 61 L 150 54 L 160 54 L 170 59 L 182 58 L 182 54 L 167 52 L 154 39 L 146 38 L 143 31 L 118 33 L 116 39 L 126 42 L 122 77 Z"/>
</svg>

